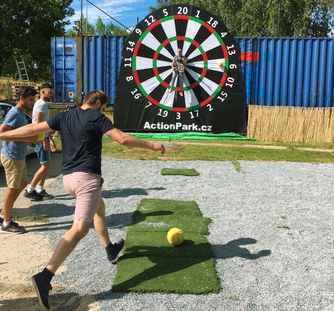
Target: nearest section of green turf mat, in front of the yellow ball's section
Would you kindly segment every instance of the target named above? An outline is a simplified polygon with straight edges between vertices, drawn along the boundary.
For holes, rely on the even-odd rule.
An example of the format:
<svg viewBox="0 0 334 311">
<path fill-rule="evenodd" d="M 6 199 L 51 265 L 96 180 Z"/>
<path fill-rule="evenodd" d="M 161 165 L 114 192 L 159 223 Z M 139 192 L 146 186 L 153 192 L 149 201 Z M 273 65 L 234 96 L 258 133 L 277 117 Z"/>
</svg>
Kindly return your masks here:
<svg viewBox="0 0 334 311">
<path fill-rule="evenodd" d="M 208 294 L 220 284 L 213 259 L 139 257 L 118 260 L 112 291 Z"/>
</svg>

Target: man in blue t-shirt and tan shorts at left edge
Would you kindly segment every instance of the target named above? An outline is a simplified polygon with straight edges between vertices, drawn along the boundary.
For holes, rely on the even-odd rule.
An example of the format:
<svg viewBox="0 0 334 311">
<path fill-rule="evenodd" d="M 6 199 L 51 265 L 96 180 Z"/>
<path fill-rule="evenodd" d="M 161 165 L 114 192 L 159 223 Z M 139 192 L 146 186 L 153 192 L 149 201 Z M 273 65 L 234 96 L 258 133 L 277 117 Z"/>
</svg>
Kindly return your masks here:
<svg viewBox="0 0 334 311">
<path fill-rule="evenodd" d="M 0 126 L 0 133 L 10 132 L 16 128 L 27 125 L 24 112 L 31 109 L 35 104 L 37 91 L 30 86 L 21 86 L 18 89 L 18 104 L 12 107 L 7 113 L 5 120 Z M 25 138 L 1 139 L 3 147 L 1 149 L 1 163 L 6 172 L 7 192 L 3 200 L 3 209 L 0 215 L 1 233 L 19 234 L 25 228 L 12 221 L 12 210 L 14 202 L 21 191 L 27 186 L 27 169 L 25 155 L 27 145 L 30 141 L 35 141 L 35 136 Z"/>
</svg>

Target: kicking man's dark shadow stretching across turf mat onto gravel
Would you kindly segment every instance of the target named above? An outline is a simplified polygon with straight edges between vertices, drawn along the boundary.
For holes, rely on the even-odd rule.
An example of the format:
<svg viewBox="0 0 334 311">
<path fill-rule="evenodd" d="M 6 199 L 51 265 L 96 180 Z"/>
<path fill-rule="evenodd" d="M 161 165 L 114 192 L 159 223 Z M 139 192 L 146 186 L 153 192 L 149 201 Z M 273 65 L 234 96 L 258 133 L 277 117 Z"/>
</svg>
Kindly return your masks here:
<svg viewBox="0 0 334 311">
<path fill-rule="evenodd" d="M 125 255 L 118 261 L 147 257 L 155 265 L 122 283 L 112 286 L 112 290 L 116 292 L 128 292 L 149 279 L 187 269 L 212 257 L 216 259 L 240 257 L 255 260 L 271 254 L 271 251 L 268 249 L 252 254 L 246 248 L 241 247 L 241 245 L 254 244 L 256 242 L 257 240 L 255 239 L 240 238 L 223 245 L 211 245 L 211 248 L 209 243 L 195 244 L 191 240 L 185 240 L 178 247 L 133 246 L 126 249 Z M 182 248 L 187 248 L 188 251 L 185 252 Z M 215 256 L 212 255 L 211 249 Z M 181 254 L 187 254 L 187 257 L 180 259 Z M 176 261 L 177 264 L 175 264 Z"/>
</svg>

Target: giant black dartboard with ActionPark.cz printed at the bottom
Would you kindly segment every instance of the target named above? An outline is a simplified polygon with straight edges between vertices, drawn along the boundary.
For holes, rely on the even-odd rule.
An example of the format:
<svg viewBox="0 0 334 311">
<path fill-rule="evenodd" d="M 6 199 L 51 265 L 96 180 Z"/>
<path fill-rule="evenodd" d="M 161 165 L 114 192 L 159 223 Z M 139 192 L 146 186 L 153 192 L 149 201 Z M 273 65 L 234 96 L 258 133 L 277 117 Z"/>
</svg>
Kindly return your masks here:
<svg viewBox="0 0 334 311">
<path fill-rule="evenodd" d="M 184 96 L 171 63 L 182 49 Z M 114 105 L 125 131 L 245 133 L 245 103 L 234 38 L 215 16 L 191 5 L 171 5 L 145 17 L 122 53 Z"/>
</svg>

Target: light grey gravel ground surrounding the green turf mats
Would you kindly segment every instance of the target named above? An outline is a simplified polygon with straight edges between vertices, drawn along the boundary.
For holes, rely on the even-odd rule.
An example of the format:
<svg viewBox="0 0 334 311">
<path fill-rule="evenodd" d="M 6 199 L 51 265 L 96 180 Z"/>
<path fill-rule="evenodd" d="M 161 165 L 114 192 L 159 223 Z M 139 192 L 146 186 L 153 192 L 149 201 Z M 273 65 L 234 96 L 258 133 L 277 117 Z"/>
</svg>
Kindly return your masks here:
<svg viewBox="0 0 334 311">
<path fill-rule="evenodd" d="M 68 285 L 64 294 L 93 294 L 103 311 L 333 311 L 334 165 L 240 164 L 242 173 L 231 162 L 110 157 L 102 161 L 102 196 L 112 242 L 126 236 L 132 212 L 142 198 L 195 200 L 203 216 L 213 221 L 207 239 L 222 284 L 219 294 L 112 293 L 117 266 L 107 261 L 93 229 L 54 282 Z M 194 168 L 200 175 L 163 176 L 164 167 Z M 71 226 L 75 202 L 61 179 L 52 190 L 57 198 L 39 207 L 39 213 L 50 214 L 50 224 L 40 230 L 56 247 Z"/>
</svg>

